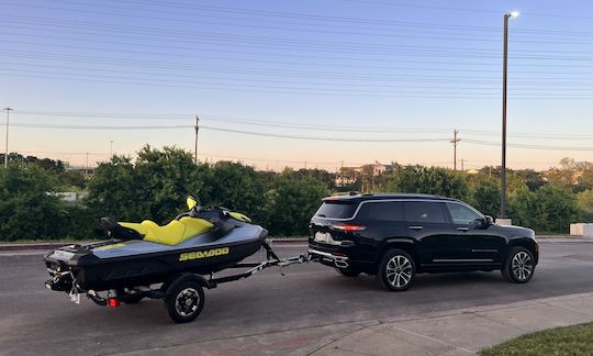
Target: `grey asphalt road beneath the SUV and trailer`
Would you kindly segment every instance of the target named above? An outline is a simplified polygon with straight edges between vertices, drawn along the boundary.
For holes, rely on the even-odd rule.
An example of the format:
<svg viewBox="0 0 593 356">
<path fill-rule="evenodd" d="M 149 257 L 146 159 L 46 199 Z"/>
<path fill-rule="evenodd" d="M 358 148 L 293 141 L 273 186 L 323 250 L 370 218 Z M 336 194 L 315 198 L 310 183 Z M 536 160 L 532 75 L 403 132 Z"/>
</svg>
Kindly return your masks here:
<svg viewBox="0 0 593 356">
<path fill-rule="evenodd" d="M 282 256 L 305 249 L 277 248 Z M 318 264 L 296 265 L 282 269 L 284 276 L 270 268 L 206 290 L 198 320 L 176 325 L 159 300 L 113 310 L 86 299 L 71 303 L 65 293 L 43 287 L 47 276 L 38 254 L 3 254 L 0 266 L 2 355 L 102 355 L 213 341 L 236 344 L 312 326 L 327 325 L 326 333 L 332 333 L 332 326 L 349 322 L 593 291 L 592 243 L 541 243 L 540 264 L 527 285 L 504 282 L 499 271 L 419 275 L 409 291 L 390 293 L 370 276 L 347 278 Z"/>
</svg>

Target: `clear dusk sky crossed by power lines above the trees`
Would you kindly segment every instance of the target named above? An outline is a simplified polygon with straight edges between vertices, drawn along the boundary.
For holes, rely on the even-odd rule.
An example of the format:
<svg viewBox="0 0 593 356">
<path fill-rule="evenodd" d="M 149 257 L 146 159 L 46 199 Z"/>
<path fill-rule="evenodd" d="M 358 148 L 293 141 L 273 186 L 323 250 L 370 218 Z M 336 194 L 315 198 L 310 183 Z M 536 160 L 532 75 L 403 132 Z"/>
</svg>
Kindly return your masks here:
<svg viewBox="0 0 593 356">
<path fill-rule="evenodd" d="M 0 0 L 10 151 L 83 165 L 143 145 L 259 168 L 593 160 L 593 3 Z M 4 118 L 0 119 L 1 147 Z M 112 143 L 111 143 L 112 142 Z"/>
</svg>

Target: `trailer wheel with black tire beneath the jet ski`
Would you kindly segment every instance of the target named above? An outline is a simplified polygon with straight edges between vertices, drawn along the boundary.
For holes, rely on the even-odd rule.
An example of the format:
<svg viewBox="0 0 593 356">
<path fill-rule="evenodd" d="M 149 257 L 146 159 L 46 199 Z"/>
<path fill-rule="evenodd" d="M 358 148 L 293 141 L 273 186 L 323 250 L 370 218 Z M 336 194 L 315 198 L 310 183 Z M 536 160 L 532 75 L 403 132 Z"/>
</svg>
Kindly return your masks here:
<svg viewBox="0 0 593 356">
<path fill-rule="evenodd" d="M 204 308 L 204 290 L 195 280 L 174 282 L 167 290 L 165 307 L 176 323 L 189 323 Z"/>
</svg>

